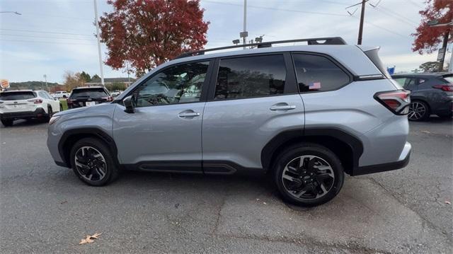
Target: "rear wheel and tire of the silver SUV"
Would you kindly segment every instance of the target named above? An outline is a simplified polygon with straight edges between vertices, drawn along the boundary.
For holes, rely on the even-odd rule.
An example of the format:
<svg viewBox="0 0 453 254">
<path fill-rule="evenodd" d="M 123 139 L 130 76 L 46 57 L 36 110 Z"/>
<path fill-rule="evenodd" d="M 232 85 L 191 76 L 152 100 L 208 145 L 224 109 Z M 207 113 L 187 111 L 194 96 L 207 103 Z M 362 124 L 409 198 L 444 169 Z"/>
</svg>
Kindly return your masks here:
<svg viewBox="0 0 453 254">
<path fill-rule="evenodd" d="M 304 162 L 299 167 L 301 161 Z M 282 199 L 303 207 L 332 200 L 345 180 L 343 166 L 336 154 L 311 143 L 289 146 L 282 151 L 275 160 L 273 171 Z"/>
</svg>

